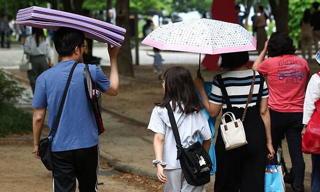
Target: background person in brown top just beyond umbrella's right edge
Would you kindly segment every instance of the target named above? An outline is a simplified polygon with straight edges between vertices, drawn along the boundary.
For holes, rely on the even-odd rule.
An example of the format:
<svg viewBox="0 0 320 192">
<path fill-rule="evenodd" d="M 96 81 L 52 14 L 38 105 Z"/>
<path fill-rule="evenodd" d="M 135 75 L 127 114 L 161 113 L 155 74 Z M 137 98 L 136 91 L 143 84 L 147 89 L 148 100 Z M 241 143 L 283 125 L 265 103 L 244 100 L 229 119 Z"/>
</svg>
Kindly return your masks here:
<svg viewBox="0 0 320 192">
<path fill-rule="evenodd" d="M 257 30 L 257 51 L 258 54 L 262 52 L 267 40 L 267 32 L 265 27 L 267 26 L 267 14 L 264 11 L 263 6 L 257 7 L 257 17 L 255 19 L 255 26 Z"/>
</svg>

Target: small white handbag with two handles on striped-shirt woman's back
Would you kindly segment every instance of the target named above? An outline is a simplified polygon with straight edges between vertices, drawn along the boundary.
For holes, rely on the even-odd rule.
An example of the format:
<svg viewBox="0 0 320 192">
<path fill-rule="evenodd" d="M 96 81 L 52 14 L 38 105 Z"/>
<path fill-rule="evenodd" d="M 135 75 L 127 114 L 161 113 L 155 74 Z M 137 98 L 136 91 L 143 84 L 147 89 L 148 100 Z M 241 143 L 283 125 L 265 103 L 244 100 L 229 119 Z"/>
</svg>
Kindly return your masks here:
<svg viewBox="0 0 320 192">
<path fill-rule="evenodd" d="M 230 116 L 230 122 L 226 122 L 226 115 Z M 233 113 L 227 112 L 222 115 L 221 122 L 220 130 L 227 151 L 248 144 L 242 121 L 235 119 Z"/>
</svg>

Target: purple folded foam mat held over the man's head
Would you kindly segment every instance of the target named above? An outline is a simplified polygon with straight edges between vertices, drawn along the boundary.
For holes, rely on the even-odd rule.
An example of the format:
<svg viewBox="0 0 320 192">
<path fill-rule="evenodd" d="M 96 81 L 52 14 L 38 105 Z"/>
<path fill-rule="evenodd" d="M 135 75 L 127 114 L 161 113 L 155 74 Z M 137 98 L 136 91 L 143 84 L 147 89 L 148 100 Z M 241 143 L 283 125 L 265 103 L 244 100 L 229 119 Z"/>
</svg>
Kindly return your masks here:
<svg viewBox="0 0 320 192">
<path fill-rule="evenodd" d="M 71 27 L 82 30 L 86 37 L 112 45 L 121 46 L 126 30 L 101 20 L 88 18 L 64 11 L 32 6 L 20 9 L 16 24 L 57 30 Z"/>
</svg>

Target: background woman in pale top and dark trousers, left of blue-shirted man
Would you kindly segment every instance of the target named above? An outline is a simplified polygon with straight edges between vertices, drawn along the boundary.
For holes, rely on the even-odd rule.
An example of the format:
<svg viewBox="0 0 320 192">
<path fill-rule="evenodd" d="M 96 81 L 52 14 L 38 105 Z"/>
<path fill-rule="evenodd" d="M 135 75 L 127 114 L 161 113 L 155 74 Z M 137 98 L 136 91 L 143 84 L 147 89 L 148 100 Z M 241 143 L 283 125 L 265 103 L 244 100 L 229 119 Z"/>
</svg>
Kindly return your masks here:
<svg viewBox="0 0 320 192">
<path fill-rule="evenodd" d="M 32 69 L 27 73 L 32 92 L 35 93 L 36 78 L 51 65 L 50 41 L 44 36 L 43 29 L 32 28 L 32 35 L 24 43 L 24 53 L 32 64 Z"/>
</svg>

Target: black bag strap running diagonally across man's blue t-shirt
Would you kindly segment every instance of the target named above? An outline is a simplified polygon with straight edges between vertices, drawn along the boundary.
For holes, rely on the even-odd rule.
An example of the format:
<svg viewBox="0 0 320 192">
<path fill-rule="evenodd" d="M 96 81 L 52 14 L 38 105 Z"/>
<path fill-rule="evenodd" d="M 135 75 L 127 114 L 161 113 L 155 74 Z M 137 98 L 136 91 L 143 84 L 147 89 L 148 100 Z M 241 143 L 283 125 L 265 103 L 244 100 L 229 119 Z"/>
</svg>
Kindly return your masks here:
<svg viewBox="0 0 320 192">
<path fill-rule="evenodd" d="M 53 139 L 53 136 L 54 136 L 54 134 L 56 133 L 56 131 L 58 129 L 58 125 L 59 125 L 59 121 L 60 121 L 60 117 L 61 117 L 61 113 L 62 113 L 62 108 L 63 108 L 63 105 L 65 103 L 66 97 L 67 97 L 69 85 L 70 85 L 70 82 L 71 82 L 71 77 L 72 77 L 73 71 L 74 71 L 75 67 L 77 66 L 77 64 L 78 64 L 78 62 L 75 62 L 73 64 L 72 68 L 71 68 L 71 71 L 70 71 L 70 74 L 69 74 L 69 77 L 68 77 L 68 80 L 67 80 L 67 84 L 66 84 L 65 90 L 63 92 L 63 96 L 61 98 L 59 110 L 58 110 L 57 116 L 55 117 L 55 121 L 54 121 L 53 127 L 52 127 L 52 129 L 50 131 L 50 135 L 51 135 L 50 139 L 51 140 Z"/>
</svg>

